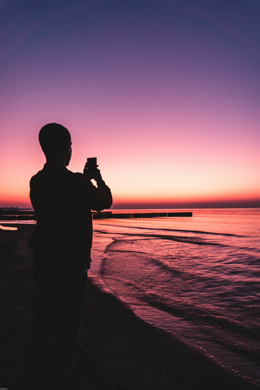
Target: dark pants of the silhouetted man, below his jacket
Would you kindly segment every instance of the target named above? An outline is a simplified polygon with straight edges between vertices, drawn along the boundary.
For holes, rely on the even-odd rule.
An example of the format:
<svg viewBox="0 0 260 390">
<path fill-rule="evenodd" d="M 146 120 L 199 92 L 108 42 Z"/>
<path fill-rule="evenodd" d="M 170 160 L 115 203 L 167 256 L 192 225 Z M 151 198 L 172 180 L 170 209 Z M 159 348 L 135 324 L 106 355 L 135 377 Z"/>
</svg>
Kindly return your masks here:
<svg viewBox="0 0 260 390">
<path fill-rule="evenodd" d="M 78 273 L 61 264 L 35 263 L 34 285 L 35 317 L 27 386 L 34 390 L 62 390 L 78 344 L 87 272 Z"/>
</svg>

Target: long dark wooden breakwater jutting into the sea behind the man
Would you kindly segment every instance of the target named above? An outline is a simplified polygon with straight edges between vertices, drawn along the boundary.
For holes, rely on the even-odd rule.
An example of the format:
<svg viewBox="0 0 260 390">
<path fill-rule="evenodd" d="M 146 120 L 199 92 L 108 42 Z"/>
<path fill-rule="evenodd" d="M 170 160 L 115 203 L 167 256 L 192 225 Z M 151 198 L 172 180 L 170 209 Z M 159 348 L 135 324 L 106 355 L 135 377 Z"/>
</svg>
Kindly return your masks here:
<svg viewBox="0 0 260 390">
<path fill-rule="evenodd" d="M 191 211 L 177 213 L 112 213 L 112 211 L 92 212 L 92 217 L 96 219 L 111 218 L 156 218 L 156 217 L 192 217 Z M 0 221 L 30 221 L 34 220 L 33 211 L 0 211 Z"/>
</svg>

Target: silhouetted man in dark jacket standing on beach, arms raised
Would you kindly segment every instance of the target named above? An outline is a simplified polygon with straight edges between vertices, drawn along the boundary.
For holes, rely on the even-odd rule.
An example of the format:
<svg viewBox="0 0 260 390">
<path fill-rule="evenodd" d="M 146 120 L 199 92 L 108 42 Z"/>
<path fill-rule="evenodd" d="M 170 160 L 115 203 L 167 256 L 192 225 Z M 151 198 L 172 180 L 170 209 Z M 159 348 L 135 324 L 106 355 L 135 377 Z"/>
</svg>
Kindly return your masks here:
<svg viewBox="0 0 260 390">
<path fill-rule="evenodd" d="M 30 181 L 37 222 L 28 242 L 34 251 L 35 318 L 27 384 L 28 389 L 58 390 L 64 388 L 78 343 L 91 262 L 91 210 L 111 207 L 112 196 L 99 170 L 92 176 L 86 167 L 85 175 L 67 170 L 72 142 L 64 126 L 43 126 L 39 142 L 46 164 Z"/>
</svg>

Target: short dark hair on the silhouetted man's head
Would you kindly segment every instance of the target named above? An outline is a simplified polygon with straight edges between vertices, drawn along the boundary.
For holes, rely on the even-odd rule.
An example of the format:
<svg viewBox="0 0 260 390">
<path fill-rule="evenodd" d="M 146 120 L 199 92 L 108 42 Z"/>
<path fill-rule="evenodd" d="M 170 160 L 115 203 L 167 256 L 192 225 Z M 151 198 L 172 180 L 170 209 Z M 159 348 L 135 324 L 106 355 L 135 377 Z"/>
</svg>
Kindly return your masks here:
<svg viewBox="0 0 260 390">
<path fill-rule="evenodd" d="M 46 157 L 56 156 L 71 140 L 69 130 L 58 123 L 48 123 L 39 132 L 39 142 Z"/>
</svg>

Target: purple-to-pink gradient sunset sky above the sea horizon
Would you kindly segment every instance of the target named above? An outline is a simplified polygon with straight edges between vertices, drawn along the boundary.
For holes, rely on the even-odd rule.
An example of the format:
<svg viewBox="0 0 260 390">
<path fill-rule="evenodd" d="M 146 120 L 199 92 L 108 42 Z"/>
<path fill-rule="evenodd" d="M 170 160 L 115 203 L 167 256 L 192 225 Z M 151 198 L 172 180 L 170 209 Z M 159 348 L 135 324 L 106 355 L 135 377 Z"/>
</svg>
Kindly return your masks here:
<svg viewBox="0 0 260 390">
<path fill-rule="evenodd" d="M 31 206 L 48 122 L 71 133 L 70 170 L 97 157 L 115 208 L 260 206 L 257 0 L 0 11 L 0 207 Z"/>
</svg>

